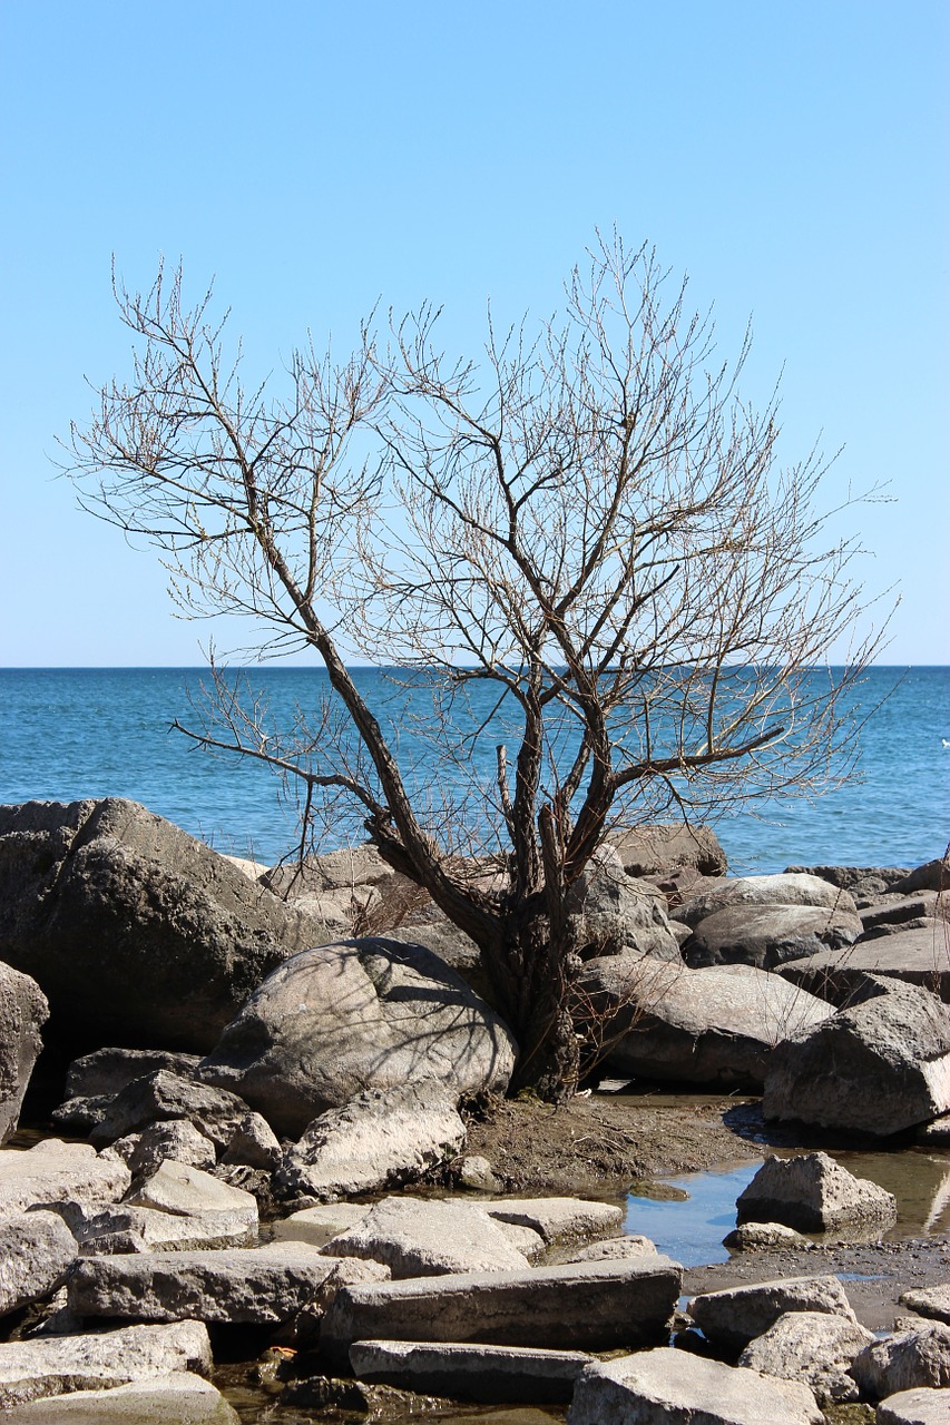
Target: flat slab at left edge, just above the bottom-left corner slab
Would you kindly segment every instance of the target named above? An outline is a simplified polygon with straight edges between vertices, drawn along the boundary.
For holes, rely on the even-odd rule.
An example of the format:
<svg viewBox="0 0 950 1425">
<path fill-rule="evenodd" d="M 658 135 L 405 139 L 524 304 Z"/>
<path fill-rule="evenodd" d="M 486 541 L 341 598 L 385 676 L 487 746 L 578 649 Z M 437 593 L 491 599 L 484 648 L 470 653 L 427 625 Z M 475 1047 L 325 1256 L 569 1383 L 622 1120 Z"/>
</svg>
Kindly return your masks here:
<svg viewBox="0 0 950 1425">
<path fill-rule="evenodd" d="M 10 1341 L 0 1345 L 0 1409 L 71 1391 L 110 1389 L 170 1371 L 211 1372 L 211 1344 L 203 1321 Z"/>
</svg>

